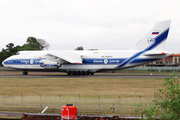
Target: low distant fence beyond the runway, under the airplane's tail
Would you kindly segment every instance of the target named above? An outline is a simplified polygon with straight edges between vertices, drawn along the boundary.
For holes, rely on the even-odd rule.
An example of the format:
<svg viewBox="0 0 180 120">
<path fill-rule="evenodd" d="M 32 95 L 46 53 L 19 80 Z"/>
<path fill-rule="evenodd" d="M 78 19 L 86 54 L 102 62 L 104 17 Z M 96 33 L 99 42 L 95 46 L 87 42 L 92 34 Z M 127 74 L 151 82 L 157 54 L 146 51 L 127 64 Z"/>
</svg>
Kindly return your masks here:
<svg viewBox="0 0 180 120">
<path fill-rule="evenodd" d="M 133 67 L 125 69 L 126 71 L 171 71 L 179 72 L 180 67 Z"/>
</svg>

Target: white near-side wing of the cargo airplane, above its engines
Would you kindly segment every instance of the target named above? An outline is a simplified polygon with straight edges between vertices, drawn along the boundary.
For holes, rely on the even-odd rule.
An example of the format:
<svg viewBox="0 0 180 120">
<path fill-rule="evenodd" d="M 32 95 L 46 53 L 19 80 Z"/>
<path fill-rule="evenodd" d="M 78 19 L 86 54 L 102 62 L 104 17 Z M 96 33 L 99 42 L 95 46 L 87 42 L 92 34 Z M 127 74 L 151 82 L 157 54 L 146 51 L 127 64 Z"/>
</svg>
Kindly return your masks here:
<svg viewBox="0 0 180 120">
<path fill-rule="evenodd" d="M 73 53 L 73 52 L 68 52 L 68 51 L 50 52 L 47 55 L 61 58 L 72 64 L 82 64 L 81 55 Z"/>
</svg>

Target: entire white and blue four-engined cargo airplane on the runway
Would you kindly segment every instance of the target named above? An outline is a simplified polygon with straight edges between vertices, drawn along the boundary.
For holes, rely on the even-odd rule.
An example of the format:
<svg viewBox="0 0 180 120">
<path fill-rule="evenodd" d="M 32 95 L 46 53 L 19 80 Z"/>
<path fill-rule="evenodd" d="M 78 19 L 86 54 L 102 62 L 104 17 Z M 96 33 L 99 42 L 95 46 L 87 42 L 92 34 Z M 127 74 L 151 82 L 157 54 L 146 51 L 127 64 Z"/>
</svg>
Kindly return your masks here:
<svg viewBox="0 0 180 120">
<path fill-rule="evenodd" d="M 94 75 L 96 72 L 120 70 L 168 57 L 164 51 L 170 20 L 156 24 L 130 50 L 105 51 L 20 51 L 3 61 L 4 67 L 23 71 L 66 72 L 68 75 Z"/>
</svg>

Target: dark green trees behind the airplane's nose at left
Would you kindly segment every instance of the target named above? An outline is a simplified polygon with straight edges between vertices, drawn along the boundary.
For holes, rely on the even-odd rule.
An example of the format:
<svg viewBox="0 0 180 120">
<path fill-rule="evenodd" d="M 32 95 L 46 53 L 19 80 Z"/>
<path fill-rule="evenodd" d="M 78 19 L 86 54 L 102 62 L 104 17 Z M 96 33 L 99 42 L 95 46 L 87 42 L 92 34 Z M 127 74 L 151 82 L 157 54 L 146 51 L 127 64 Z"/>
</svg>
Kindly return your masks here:
<svg viewBox="0 0 180 120">
<path fill-rule="evenodd" d="M 2 62 L 16 54 L 18 51 L 24 51 L 24 50 L 43 50 L 48 49 L 50 45 L 43 39 L 37 39 L 35 37 L 28 37 L 25 44 L 22 46 L 14 46 L 13 43 L 9 43 L 6 45 L 6 49 L 2 49 L 0 52 L 0 65 L 2 66 Z"/>
</svg>

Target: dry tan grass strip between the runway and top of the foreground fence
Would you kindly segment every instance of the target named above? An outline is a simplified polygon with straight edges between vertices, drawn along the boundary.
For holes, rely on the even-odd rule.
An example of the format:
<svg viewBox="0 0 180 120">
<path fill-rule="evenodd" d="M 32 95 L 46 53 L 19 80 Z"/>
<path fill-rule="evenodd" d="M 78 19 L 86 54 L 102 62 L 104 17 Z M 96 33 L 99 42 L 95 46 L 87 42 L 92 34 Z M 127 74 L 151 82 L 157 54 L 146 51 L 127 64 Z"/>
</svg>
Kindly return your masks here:
<svg viewBox="0 0 180 120">
<path fill-rule="evenodd" d="M 0 78 L 0 91 L 8 96 L 153 97 L 163 83 L 160 78 Z"/>
</svg>

